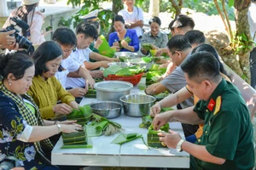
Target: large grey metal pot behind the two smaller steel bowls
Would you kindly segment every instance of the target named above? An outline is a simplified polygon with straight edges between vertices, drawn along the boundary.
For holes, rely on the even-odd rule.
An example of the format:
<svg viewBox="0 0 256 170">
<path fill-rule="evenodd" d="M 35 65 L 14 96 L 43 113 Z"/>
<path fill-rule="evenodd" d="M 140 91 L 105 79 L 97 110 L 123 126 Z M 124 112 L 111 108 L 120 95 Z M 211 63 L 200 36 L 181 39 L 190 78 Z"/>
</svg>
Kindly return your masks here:
<svg viewBox="0 0 256 170">
<path fill-rule="evenodd" d="M 123 81 L 103 81 L 96 82 L 94 88 L 96 89 L 96 99 L 119 102 L 121 96 L 130 94 L 133 85 Z"/>
</svg>

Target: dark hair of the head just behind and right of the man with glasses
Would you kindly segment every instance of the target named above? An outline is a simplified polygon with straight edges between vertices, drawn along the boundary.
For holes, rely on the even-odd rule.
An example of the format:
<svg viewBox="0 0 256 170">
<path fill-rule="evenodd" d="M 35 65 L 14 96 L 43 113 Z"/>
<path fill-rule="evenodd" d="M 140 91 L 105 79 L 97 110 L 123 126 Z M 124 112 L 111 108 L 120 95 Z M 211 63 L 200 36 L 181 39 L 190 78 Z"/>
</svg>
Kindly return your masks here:
<svg viewBox="0 0 256 170">
<path fill-rule="evenodd" d="M 188 37 L 189 42 L 191 44 L 194 44 L 194 43 L 201 44 L 201 43 L 206 42 L 206 37 L 205 37 L 204 33 L 201 31 L 198 31 L 198 30 L 187 31 L 185 36 Z"/>
</svg>

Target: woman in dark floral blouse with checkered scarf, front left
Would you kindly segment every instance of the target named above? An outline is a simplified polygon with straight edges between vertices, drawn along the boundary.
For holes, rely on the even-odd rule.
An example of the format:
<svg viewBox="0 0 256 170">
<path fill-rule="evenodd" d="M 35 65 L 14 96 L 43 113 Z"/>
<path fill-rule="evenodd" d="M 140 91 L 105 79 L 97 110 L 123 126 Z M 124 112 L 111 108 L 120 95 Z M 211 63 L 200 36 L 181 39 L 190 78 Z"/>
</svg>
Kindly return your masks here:
<svg viewBox="0 0 256 170">
<path fill-rule="evenodd" d="M 56 170 L 46 150 L 52 150 L 49 137 L 82 129 L 75 121 L 43 120 L 37 104 L 26 94 L 32 85 L 35 66 L 26 54 L 0 54 L 0 161 L 14 156 L 25 169 Z"/>
</svg>

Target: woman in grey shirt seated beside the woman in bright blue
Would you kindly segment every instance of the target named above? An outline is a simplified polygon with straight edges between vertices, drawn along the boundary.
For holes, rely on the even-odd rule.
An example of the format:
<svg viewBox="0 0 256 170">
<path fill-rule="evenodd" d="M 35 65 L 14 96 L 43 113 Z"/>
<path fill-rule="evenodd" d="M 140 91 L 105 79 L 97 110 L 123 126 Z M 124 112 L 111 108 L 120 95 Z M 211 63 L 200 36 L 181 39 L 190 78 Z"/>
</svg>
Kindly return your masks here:
<svg viewBox="0 0 256 170">
<path fill-rule="evenodd" d="M 168 37 L 166 34 L 160 32 L 161 20 L 157 16 L 153 16 L 148 24 L 150 26 L 150 31 L 143 34 L 141 43 L 150 43 L 153 45 L 154 49 L 166 48 L 168 42 Z M 141 48 L 143 54 L 149 54 L 148 50 Z"/>
</svg>

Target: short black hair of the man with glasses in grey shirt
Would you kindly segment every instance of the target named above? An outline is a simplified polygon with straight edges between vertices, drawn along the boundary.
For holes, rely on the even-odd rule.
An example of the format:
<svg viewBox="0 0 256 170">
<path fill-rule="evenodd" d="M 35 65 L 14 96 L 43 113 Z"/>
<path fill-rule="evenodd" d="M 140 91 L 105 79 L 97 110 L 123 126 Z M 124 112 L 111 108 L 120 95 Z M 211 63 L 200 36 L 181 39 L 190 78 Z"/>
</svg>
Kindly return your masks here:
<svg viewBox="0 0 256 170">
<path fill-rule="evenodd" d="M 172 37 L 169 42 L 167 42 L 167 48 L 173 52 L 177 50 L 183 51 L 184 49 L 192 47 L 188 37 L 185 37 L 184 35 L 177 35 Z"/>
</svg>

